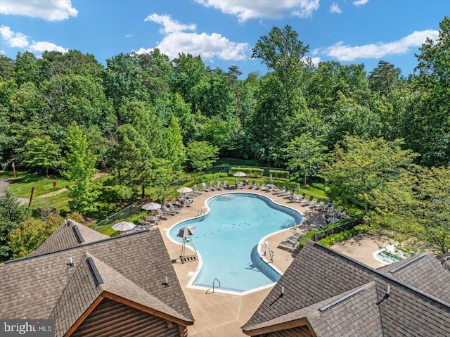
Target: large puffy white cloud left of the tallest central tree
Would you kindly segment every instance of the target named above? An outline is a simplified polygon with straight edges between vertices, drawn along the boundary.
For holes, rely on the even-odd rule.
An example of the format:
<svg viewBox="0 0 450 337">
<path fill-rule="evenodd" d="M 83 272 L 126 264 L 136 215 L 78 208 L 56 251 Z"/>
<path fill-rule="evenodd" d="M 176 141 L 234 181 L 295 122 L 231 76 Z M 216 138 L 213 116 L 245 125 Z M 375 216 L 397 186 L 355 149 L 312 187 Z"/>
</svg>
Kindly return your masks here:
<svg viewBox="0 0 450 337">
<path fill-rule="evenodd" d="M 160 23 L 163 26 L 161 32 L 165 34 L 156 48 L 160 49 L 169 58 L 178 57 L 178 53 L 191 53 L 193 56 L 200 55 L 204 60 L 212 61 L 213 58 L 223 60 L 244 60 L 248 58 L 250 50 L 247 43 L 232 42 L 221 34 L 207 34 L 196 32 L 184 32 L 184 30 L 195 30 L 195 25 L 184 25 L 172 20 L 169 15 L 148 15 L 146 21 Z M 153 48 L 141 48 L 136 53 L 148 53 Z"/>
</svg>

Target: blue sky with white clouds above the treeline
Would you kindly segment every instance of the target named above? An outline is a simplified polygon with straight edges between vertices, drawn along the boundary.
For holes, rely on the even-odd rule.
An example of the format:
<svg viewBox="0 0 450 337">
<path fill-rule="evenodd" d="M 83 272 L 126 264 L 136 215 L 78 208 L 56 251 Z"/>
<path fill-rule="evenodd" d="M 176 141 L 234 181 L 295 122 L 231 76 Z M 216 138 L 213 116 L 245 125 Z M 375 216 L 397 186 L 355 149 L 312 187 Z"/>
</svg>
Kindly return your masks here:
<svg viewBox="0 0 450 337">
<path fill-rule="evenodd" d="M 252 47 L 272 27 L 290 25 L 315 64 L 383 60 L 409 75 L 426 37 L 436 39 L 449 0 L 0 0 L 0 52 L 77 49 L 106 60 L 158 47 L 169 58 L 202 56 L 243 77 L 262 75 Z"/>
</svg>

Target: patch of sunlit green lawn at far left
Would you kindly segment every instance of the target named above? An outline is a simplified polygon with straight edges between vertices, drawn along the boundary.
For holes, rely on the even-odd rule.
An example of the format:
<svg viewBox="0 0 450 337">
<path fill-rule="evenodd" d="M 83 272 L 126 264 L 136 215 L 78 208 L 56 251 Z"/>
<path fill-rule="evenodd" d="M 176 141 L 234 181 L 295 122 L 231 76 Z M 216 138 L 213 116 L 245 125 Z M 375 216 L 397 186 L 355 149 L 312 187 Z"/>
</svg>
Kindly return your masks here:
<svg viewBox="0 0 450 337">
<path fill-rule="evenodd" d="M 20 172 L 16 179 L 13 179 L 13 184 L 8 187 L 13 196 L 21 198 L 30 198 L 31 190 L 34 187 L 34 198 L 42 196 L 47 193 L 58 191 L 65 188 L 69 182 L 61 178 L 43 178 L 37 174 Z M 53 182 L 56 182 L 56 187 L 53 187 Z"/>
</svg>

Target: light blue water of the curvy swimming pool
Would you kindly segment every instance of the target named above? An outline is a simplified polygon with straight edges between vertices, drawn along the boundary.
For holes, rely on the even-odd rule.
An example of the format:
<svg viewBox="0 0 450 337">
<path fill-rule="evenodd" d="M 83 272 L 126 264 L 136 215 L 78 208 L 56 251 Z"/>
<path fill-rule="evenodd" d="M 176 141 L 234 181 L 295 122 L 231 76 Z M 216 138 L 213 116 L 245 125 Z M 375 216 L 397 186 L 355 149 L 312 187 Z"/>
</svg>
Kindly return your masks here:
<svg viewBox="0 0 450 337">
<path fill-rule="evenodd" d="M 181 243 L 179 229 L 197 227 L 192 240 L 203 267 L 193 285 L 209 288 L 218 279 L 222 289 L 243 292 L 278 281 L 280 274 L 261 260 L 257 244 L 267 234 L 300 223 L 300 213 L 251 193 L 214 196 L 208 206 L 206 217 L 181 222 L 169 232 Z"/>
</svg>

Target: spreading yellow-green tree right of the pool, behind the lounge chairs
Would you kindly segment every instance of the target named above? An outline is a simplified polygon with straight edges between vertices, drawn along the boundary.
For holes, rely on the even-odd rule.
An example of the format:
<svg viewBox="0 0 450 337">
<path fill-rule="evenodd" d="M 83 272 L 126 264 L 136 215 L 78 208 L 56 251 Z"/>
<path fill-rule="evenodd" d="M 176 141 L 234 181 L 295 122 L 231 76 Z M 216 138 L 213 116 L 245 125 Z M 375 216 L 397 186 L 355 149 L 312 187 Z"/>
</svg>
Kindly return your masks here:
<svg viewBox="0 0 450 337">
<path fill-rule="evenodd" d="M 400 139 L 346 136 L 345 144 L 335 147 L 330 163 L 321 171 L 331 195 L 367 213 L 374 207 L 371 200 L 375 189 L 385 189 L 388 182 L 396 181 L 411 168 L 416 153 L 402 150 L 402 145 Z"/>
</svg>

